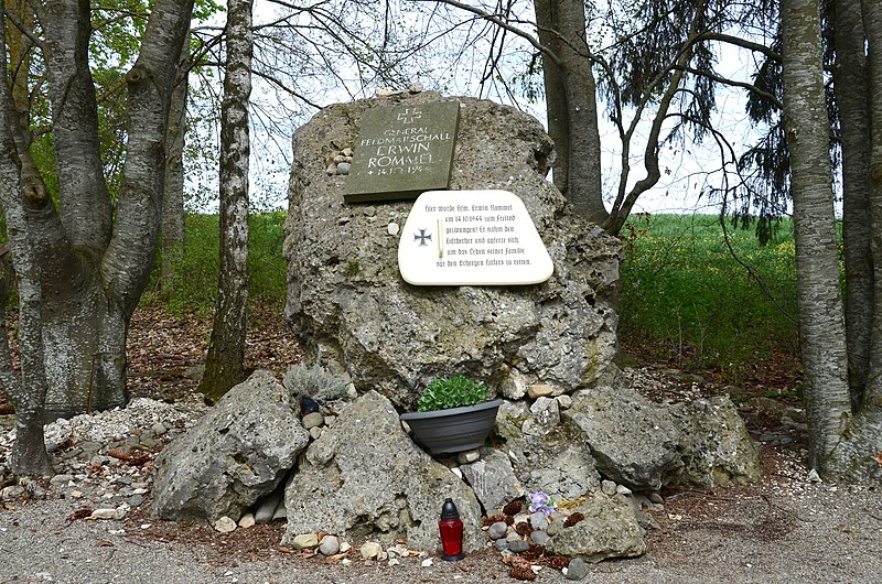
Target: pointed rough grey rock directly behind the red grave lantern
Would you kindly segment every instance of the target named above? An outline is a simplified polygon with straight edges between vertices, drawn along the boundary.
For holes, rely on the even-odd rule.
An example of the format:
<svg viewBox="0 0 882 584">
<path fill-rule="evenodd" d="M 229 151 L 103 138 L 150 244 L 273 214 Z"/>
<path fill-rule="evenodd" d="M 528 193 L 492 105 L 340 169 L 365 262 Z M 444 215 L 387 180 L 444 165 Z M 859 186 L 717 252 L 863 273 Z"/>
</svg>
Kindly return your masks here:
<svg viewBox="0 0 882 584">
<path fill-rule="evenodd" d="M 386 543 L 405 538 L 411 548 L 435 551 L 448 497 L 464 524 L 464 549 L 482 549 L 481 506 L 472 489 L 413 444 L 388 399 L 368 391 L 306 448 L 289 479 L 282 543 L 324 531 Z"/>
</svg>

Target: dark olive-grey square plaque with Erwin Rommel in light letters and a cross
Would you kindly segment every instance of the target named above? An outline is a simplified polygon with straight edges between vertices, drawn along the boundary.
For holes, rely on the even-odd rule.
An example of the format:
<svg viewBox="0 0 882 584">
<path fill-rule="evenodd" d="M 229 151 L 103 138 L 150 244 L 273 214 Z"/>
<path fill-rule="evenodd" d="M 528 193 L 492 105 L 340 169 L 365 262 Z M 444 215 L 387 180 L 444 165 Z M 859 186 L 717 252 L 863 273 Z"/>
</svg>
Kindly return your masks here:
<svg viewBox="0 0 882 584">
<path fill-rule="evenodd" d="M 346 203 L 417 198 L 448 188 L 459 122 L 456 101 L 366 110 L 346 179 Z"/>
</svg>

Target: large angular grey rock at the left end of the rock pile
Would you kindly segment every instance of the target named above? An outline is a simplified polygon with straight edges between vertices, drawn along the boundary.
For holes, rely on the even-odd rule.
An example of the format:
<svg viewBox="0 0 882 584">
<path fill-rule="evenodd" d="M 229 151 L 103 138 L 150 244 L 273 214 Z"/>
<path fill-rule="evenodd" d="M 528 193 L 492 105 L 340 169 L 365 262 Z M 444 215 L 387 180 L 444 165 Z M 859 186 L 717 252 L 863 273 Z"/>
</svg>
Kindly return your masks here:
<svg viewBox="0 0 882 584">
<path fill-rule="evenodd" d="M 162 519 L 238 519 L 272 491 L 309 434 L 271 371 L 230 389 L 155 461 L 153 512 Z"/>
</svg>

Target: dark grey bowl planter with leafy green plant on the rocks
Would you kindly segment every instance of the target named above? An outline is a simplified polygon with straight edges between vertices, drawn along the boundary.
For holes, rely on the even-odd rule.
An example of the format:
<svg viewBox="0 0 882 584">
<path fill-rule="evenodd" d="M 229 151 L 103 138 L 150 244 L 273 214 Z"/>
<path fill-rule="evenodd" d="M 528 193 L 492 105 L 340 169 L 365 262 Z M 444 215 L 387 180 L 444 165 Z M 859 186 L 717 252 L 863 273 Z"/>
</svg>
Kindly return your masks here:
<svg viewBox="0 0 882 584">
<path fill-rule="evenodd" d="M 432 380 L 417 401 L 417 411 L 401 414 L 413 441 L 430 454 L 480 447 L 496 423 L 503 400 L 487 387 L 458 375 Z"/>
</svg>

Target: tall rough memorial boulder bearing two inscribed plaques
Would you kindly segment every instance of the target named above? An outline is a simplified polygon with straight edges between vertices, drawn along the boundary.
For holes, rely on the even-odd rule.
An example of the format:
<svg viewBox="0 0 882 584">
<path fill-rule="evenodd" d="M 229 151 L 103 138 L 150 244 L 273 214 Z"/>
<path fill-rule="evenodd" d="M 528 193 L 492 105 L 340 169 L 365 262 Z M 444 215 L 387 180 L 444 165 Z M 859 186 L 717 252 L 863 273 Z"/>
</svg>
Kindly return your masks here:
<svg viewBox="0 0 882 584">
<path fill-rule="evenodd" d="M 391 166 L 379 158 L 392 152 L 417 155 L 399 149 L 423 140 L 398 138 L 453 133 L 432 128 L 451 128 L 456 116 L 448 112 L 454 109 L 459 111 L 455 140 L 443 141 L 452 149 L 447 186 L 434 179 L 418 183 L 423 176 L 411 172 L 411 166 L 419 166 L 411 164 L 415 160 L 404 160 L 407 169 L 398 165 L 391 174 L 377 174 Z M 435 119 L 432 112 L 439 110 L 445 113 Z M 419 121 L 402 122 L 419 123 L 408 128 L 428 130 L 387 134 L 405 112 L 420 115 Z M 389 121 L 372 129 L 375 118 Z M 379 143 L 389 138 L 396 139 L 394 143 Z M 396 149 L 380 150 L 391 147 Z M 363 161 L 362 170 L 354 162 L 349 176 L 329 175 L 325 161 L 349 148 L 355 160 Z M 306 358 L 314 363 L 321 356 L 323 366 L 348 376 L 359 392 L 377 390 L 400 409 L 412 407 L 432 378 L 455 374 L 483 380 L 510 398 L 524 396 L 530 386 L 547 386 L 552 394 L 561 394 L 615 377 L 614 284 L 621 248 L 616 239 L 577 216 L 546 179 L 552 152 L 551 140 L 535 118 L 492 101 L 434 93 L 335 105 L 301 127 L 294 136 L 286 224 L 286 314 Z M 432 163 L 441 160 L 430 153 Z M 420 208 L 400 198 L 426 191 L 437 193 L 427 193 L 432 202 Z M 465 193 L 452 193 L 456 191 Z M 497 202 L 497 196 L 506 201 Z M 437 208 L 427 210 L 427 205 Z M 454 208 L 441 212 L 441 205 Z M 460 212 L 458 205 L 467 209 Z M 473 210 L 472 205 L 481 209 Z M 512 205 L 512 209 L 517 205 L 518 212 L 492 210 L 490 205 Z M 437 230 L 438 224 L 408 224 L 419 214 L 435 221 L 452 218 L 450 226 L 476 229 L 495 223 L 503 231 L 448 229 L 443 257 L 438 258 L 438 240 L 432 240 L 432 248 L 428 239 L 428 230 Z M 485 220 L 490 217 L 494 221 Z M 533 229 L 524 221 L 531 223 L 538 235 L 529 252 L 519 241 L 531 237 Z M 506 232 L 506 227 L 518 234 Z M 464 242 L 473 235 L 505 237 L 505 242 Z M 460 275 L 460 258 L 483 250 L 483 256 L 474 256 L 483 257 L 483 264 L 470 270 L 477 278 L 443 281 L 438 273 L 413 275 L 407 259 L 399 269 L 399 244 L 412 244 L 415 237 L 417 248 L 423 241 L 423 251 L 430 249 L 433 262 L 443 260 L 445 269 L 447 261 L 454 261 L 450 252 L 455 249 L 456 269 L 450 273 Z M 509 242 L 509 237 L 518 241 Z M 510 279 L 505 273 L 516 271 L 515 260 L 544 263 L 546 253 L 550 261 L 539 277 Z M 512 264 L 497 273 L 491 261 L 506 261 L 506 256 Z"/>
</svg>

